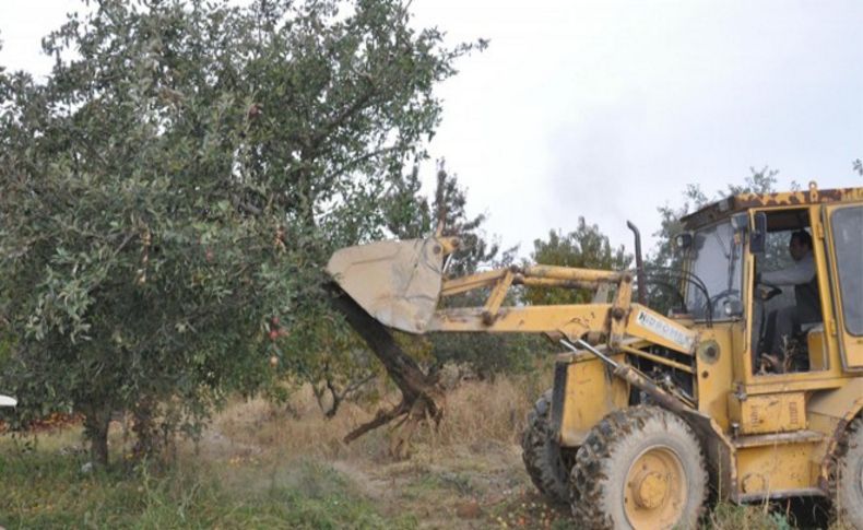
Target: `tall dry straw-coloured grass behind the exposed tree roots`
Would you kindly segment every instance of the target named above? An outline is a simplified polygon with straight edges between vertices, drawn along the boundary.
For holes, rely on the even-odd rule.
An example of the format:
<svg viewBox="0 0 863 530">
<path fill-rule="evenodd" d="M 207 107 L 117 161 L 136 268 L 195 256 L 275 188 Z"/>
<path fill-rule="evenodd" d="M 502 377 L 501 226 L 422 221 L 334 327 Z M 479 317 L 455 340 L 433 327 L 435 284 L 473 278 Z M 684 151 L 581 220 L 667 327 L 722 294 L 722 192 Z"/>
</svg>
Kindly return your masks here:
<svg viewBox="0 0 863 530">
<path fill-rule="evenodd" d="M 494 382 L 470 381 L 447 394 L 440 428 L 417 432 L 417 446 L 448 449 L 488 441 L 517 444 L 528 409 L 545 387 L 535 377 L 497 378 Z M 379 407 L 394 404 L 391 392 Z M 374 417 L 376 409 L 344 403 L 327 420 L 311 389 L 303 387 L 280 407 L 258 398 L 234 401 L 220 413 L 202 444 L 204 450 L 234 450 L 245 446 L 259 451 L 283 451 L 321 458 L 379 456 L 387 428 L 373 432 L 346 446 L 341 440 L 357 425 Z"/>
</svg>

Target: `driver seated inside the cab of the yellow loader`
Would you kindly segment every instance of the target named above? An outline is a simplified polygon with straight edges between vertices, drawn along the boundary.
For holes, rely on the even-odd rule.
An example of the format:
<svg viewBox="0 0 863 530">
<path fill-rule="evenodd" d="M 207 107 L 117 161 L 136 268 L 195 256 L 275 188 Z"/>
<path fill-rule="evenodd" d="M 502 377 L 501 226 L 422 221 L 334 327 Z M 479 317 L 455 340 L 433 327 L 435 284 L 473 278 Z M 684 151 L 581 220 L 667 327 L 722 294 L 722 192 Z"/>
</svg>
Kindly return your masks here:
<svg viewBox="0 0 863 530">
<path fill-rule="evenodd" d="M 775 287 L 794 286 L 796 303 L 772 310 L 767 317 L 762 358 L 779 372 L 783 372 L 785 345 L 795 328 L 821 321 L 809 233 L 801 229 L 791 234 L 788 251 L 794 263 L 785 269 L 765 272 L 759 280 L 759 283 Z"/>
</svg>

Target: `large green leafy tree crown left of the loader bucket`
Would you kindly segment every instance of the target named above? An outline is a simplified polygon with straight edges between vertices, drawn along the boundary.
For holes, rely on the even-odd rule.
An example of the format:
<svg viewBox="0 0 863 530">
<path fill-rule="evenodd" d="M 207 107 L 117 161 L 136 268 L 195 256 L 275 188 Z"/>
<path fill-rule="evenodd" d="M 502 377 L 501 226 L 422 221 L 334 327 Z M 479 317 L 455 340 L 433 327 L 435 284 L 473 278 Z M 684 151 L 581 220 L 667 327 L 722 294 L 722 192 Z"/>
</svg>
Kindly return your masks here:
<svg viewBox="0 0 863 530">
<path fill-rule="evenodd" d="M 147 455 L 308 372 L 289 348 L 270 369 L 274 342 L 321 314 L 332 248 L 388 233 L 472 46 L 397 0 L 88 5 L 44 40 L 45 81 L 0 71 L 2 384 L 22 421 L 82 413 L 104 464 L 114 411 Z"/>
</svg>

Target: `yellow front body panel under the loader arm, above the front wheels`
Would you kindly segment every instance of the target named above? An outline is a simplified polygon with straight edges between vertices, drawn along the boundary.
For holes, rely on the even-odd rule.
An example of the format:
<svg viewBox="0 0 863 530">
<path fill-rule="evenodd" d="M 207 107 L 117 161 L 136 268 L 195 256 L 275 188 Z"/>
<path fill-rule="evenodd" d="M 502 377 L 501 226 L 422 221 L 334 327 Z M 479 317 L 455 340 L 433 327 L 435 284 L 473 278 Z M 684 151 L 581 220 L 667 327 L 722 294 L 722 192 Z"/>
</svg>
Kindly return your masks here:
<svg viewBox="0 0 863 530">
<path fill-rule="evenodd" d="M 615 355 L 622 361 L 623 355 Z M 560 424 L 560 445 L 580 446 L 588 433 L 606 414 L 623 409 L 629 401 L 629 388 L 611 376 L 596 357 L 581 357 L 569 365 Z"/>
</svg>

